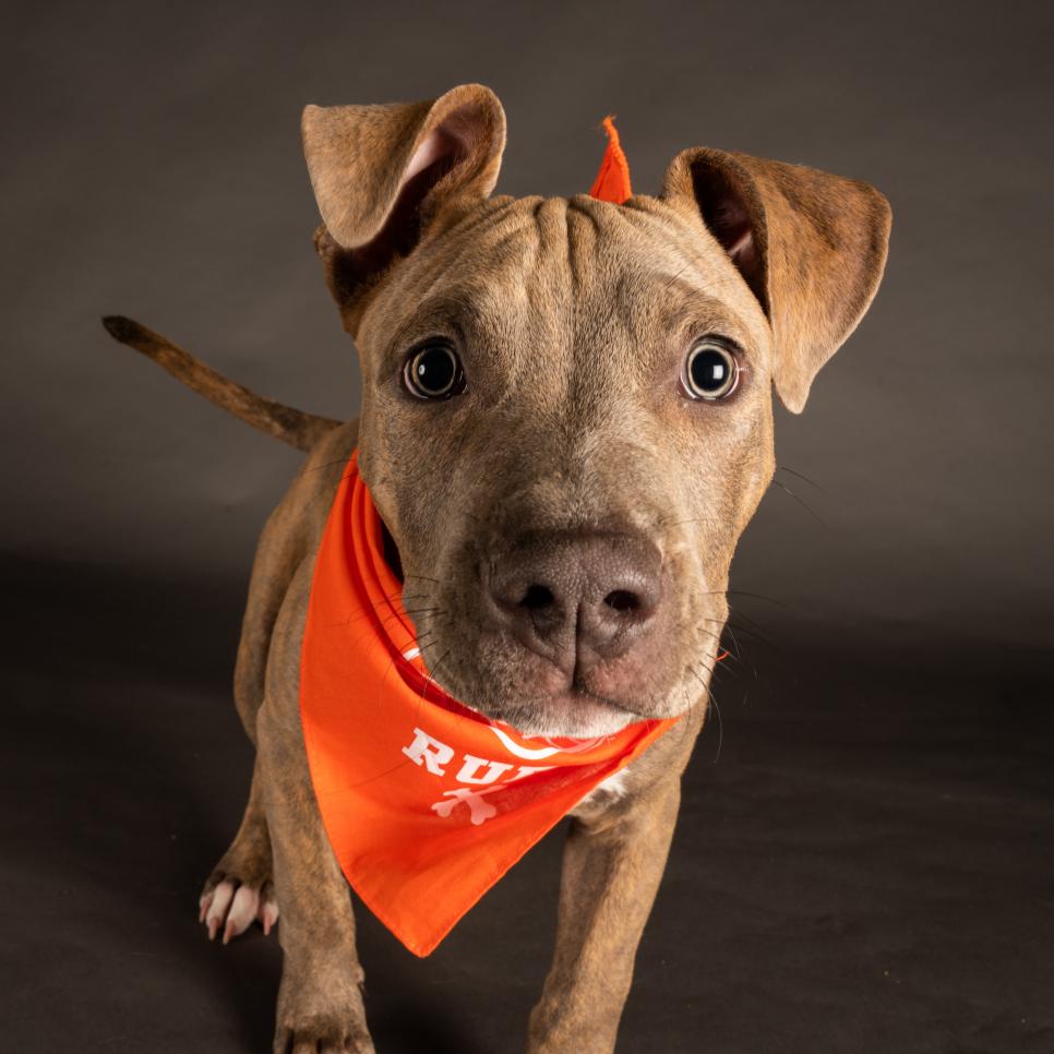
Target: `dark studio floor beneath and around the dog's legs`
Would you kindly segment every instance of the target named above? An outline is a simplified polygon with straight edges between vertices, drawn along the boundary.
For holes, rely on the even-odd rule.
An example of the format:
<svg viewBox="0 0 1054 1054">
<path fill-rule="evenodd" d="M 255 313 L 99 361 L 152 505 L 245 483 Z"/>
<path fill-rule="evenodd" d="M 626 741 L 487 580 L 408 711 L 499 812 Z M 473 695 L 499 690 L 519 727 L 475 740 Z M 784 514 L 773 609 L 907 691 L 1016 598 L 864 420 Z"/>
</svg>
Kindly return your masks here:
<svg viewBox="0 0 1054 1054">
<path fill-rule="evenodd" d="M 277 941 L 195 910 L 251 766 L 243 584 L 4 571 L 0 1046 L 270 1050 Z M 619 1051 L 1054 1051 L 1046 658 L 781 620 L 721 670 Z M 522 1050 L 559 835 L 430 959 L 359 909 L 382 1054 Z"/>
</svg>

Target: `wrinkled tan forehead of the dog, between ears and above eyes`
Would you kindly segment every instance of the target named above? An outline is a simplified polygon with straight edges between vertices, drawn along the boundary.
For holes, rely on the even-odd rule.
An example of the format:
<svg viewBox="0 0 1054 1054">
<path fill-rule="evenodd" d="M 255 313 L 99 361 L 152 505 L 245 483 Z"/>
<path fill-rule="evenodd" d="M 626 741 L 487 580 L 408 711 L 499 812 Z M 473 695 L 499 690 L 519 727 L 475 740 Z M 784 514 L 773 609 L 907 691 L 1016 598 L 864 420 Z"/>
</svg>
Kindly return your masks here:
<svg viewBox="0 0 1054 1054">
<path fill-rule="evenodd" d="M 364 347 L 459 318 L 502 342 L 720 332 L 767 354 L 757 300 L 702 220 L 663 202 L 491 199 L 427 239 L 368 311 Z"/>
</svg>

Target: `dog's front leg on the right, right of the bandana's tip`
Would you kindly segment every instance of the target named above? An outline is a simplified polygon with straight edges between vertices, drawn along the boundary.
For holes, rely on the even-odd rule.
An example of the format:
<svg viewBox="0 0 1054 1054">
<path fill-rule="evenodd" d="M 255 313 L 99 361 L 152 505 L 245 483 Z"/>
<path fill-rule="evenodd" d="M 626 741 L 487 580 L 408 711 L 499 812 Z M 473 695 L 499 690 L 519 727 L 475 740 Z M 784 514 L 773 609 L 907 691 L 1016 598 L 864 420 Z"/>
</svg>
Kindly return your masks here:
<svg viewBox="0 0 1054 1054">
<path fill-rule="evenodd" d="M 528 1054 L 610 1054 L 680 804 L 667 779 L 611 813 L 572 821 L 556 949 L 530 1015 Z"/>
</svg>

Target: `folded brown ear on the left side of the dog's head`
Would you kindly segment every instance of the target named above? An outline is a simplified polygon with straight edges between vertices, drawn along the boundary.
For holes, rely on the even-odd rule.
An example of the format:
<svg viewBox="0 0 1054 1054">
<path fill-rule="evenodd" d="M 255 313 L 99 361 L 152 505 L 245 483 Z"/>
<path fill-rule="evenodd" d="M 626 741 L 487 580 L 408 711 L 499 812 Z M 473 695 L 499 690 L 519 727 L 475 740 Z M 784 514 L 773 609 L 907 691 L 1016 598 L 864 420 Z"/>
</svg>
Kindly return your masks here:
<svg viewBox="0 0 1054 1054">
<path fill-rule="evenodd" d="M 505 111 L 482 84 L 387 106 L 308 106 L 303 153 L 323 227 L 315 247 L 349 328 L 364 294 L 444 207 L 494 189 Z"/>
</svg>

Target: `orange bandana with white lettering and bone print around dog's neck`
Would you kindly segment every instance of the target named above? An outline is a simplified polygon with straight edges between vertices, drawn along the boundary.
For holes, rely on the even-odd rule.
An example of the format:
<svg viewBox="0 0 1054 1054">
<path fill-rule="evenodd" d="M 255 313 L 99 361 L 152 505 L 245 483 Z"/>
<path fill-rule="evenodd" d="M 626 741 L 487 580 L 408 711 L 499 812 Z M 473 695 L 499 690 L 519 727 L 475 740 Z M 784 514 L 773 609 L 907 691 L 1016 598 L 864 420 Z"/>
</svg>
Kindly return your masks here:
<svg viewBox="0 0 1054 1054">
<path fill-rule="evenodd" d="M 628 191 L 625 159 L 612 164 Z M 352 454 L 315 562 L 300 716 L 340 870 L 426 956 L 535 842 L 675 722 L 579 740 L 527 738 L 490 721 L 431 680 L 402 594 Z"/>
</svg>

